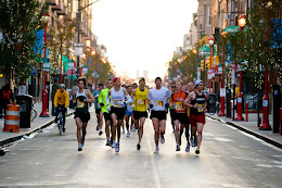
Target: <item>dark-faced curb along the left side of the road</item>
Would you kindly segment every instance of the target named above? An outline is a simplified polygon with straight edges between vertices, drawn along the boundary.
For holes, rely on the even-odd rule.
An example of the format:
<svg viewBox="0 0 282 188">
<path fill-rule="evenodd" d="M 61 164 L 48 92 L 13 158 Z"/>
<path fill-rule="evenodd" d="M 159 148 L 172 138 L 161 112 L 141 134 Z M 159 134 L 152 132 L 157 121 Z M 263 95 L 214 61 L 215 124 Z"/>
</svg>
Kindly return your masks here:
<svg viewBox="0 0 282 188">
<path fill-rule="evenodd" d="M 74 113 L 75 112 L 70 112 L 70 113 L 66 114 L 66 117 L 73 115 Z M 23 133 L 22 135 L 18 135 L 18 136 L 15 136 L 15 137 L 11 137 L 11 138 L 4 139 L 4 140 L 0 140 L 0 147 L 3 147 L 4 145 L 17 141 L 17 140 L 22 139 L 25 135 L 29 136 L 29 135 L 31 135 L 31 134 L 34 134 L 36 131 L 39 131 L 39 130 L 50 126 L 54 122 L 55 122 L 54 120 L 51 120 L 51 121 L 47 122 L 46 124 L 39 125 L 36 128 L 30 129 L 27 133 Z"/>
</svg>

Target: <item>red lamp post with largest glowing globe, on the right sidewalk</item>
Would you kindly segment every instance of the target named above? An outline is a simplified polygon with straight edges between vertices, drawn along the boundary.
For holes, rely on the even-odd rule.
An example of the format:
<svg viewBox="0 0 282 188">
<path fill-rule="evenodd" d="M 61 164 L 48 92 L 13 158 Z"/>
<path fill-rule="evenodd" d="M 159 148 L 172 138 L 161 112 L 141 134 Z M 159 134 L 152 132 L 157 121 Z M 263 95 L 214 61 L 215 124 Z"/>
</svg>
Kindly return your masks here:
<svg viewBox="0 0 282 188">
<path fill-rule="evenodd" d="M 244 27 L 246 26 L 246 17 L 244 14 L 241 14 L 238 17 L 238 25 L 241 28 L 242 32 L 242 36 L 243 36 L 243 30 Z M 238 93 L 238 98 L 236 98 L 236 117 L 235 121 L 244 121 L 244 117 L 242 115 L 242 111 L 243 111 L 243 103 L 242 103 L 242 70 L 240 68 L 240 80 L 239 80 L 239 93 Z"/>
</svg>

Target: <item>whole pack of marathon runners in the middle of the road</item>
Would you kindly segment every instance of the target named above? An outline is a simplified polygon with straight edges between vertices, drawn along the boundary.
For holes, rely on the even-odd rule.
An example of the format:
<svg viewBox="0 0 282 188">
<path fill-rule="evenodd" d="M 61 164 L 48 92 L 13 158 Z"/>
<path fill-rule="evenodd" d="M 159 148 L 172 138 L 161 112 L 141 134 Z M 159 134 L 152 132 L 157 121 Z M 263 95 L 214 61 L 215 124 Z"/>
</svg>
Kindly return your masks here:
<svg viewBox="0 0 282 188">
<path fill-rule="evenodd" d="M 165 143 L 165 130 L 168 109 L 170 111 L 171 124 L 176 138 L 176 151 L 180 151 L 181 136 L 185 131 L 187 147 L 197 147 L 195 153 L 200 153 L 202 142 L 202 131 L 205 124 L 206 96 L 203 92 L 203 83 L 196 80 L 189 83 L 187 91 L 183 90 L 183 83 L 177 80 L 171 86 L 171 91 L 162 86 L 162 78 L 155 78 L 155 87 L 148 89 L 145 79 L 139 79 L 137 84 L 121 86 L 120 79 L 115 77 L 103 84 L 99 84 L 98 89 L 92 93 L 86 89 L 86 78 L 78 78 L 79 90 L 75 93 L 74 103 L 76 105 L 75 120 L 77 125 L 78 151 L 82 151 L 87 134 L 87 124 L 90 120 L 89 103 L 94 102 L 99 135 L 103 134 L 103 116 L 105 122 L 106 146 L 120 150 L 120 135 L 124 121 L 126 122 L 127 137 L 132 129 L 138 130 L 137 150 L 141 149 L 141 141 L 144 130 L 144 123 L 151 111 L 150 118 L 154 127 L 155 151 L 158 154 L 161 143 Z M 131 117 L 131 126 L 130 124 Z M 191 124 L 191 136 L 189 134 Z M 131 129 L 131 130 L 130 130 Z M 125 134 L 125 128 L 123 130 Z M 197 134 L 197 135 L 196 135 Z"/>
</svg>

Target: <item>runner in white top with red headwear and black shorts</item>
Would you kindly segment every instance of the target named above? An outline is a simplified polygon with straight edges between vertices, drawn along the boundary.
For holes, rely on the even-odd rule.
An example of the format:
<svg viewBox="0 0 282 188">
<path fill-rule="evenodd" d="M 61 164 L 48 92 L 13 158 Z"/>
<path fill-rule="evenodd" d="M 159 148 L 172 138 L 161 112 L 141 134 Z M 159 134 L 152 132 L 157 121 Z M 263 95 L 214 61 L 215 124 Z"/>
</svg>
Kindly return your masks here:
<svg viewBox="0 0 282 188">
<path fill-rule="evenodd" d="M 119 140 L 120 140 L 120 125 L 124 121 L 125 116 L 125 106 L 132 102 L 130 96 L 128 95 L 127 90 L 123 87 L 120 87 L 120 79 L 118 77 L 115 77 L 113 79 L 114 87 L 108 91 L 106 97 L 106 109 L 107 111 L 111 111 L 111 117 L 113 121 L 113 128 L 112 128 L 112 137 L 113 137 L 113 145 L 112 148 L 116 148 L 116 152 L 119 152 Z M 111 99 L 111 105 L 110 103 L 110 97 Z M 125 98 L 127 101 L 125 101 Z M 117 131 L 117 142 L 116 140 L 116 131 Z"/>
</svg>

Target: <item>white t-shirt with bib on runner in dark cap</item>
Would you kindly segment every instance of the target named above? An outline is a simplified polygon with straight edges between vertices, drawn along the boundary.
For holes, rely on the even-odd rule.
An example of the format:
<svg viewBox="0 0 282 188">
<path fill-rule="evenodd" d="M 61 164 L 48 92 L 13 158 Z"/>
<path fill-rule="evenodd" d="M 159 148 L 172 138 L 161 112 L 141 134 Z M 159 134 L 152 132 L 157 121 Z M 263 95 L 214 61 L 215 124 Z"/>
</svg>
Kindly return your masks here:
<svg viewBox="0 0 282 188">
<path fill-rule="evenodd" d="M 165 104 L 170 96 L 170 91 L 166 87 L 161 89 L 153 88 L 148 93 L 148 99 L 153 104 L 153 111 L 166 111 Z"/>
</svg>

